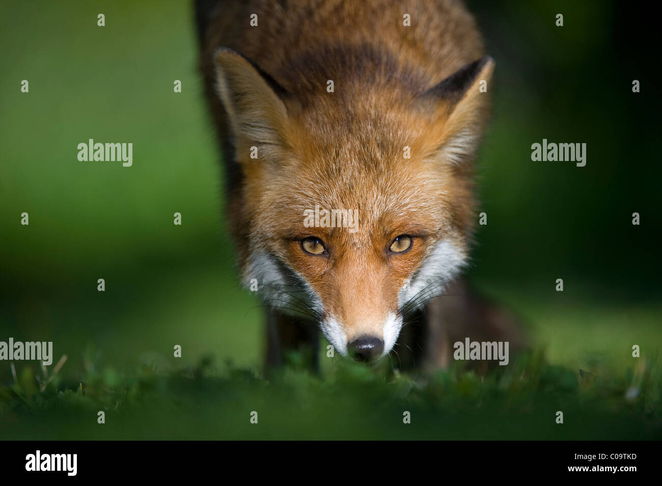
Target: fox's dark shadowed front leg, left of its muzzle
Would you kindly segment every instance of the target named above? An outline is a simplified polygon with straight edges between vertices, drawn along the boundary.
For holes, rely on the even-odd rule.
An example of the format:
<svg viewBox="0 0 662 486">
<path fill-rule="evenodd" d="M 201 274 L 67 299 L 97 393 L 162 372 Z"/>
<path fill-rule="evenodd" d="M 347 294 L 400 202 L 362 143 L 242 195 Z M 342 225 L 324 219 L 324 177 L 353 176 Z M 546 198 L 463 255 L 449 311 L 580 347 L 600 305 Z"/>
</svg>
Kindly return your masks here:
<svg viewBox="0 0 662 486">
<path fill-rule="evenodd" d="M 310 368 L 318 373 L 319 336 L 316 324 L 277 311 L 267 311 L 265 375 L 286 364 L 291 352 L 303 354 Z"/>
</svg>

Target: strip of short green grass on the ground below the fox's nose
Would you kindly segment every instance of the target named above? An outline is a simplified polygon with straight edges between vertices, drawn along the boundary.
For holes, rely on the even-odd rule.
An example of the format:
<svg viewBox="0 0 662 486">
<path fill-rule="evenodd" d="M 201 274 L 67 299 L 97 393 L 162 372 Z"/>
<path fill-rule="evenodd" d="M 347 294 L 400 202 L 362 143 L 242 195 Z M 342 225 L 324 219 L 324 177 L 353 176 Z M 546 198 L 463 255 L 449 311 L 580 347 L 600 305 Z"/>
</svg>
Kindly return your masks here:
<svg viewBox="0 0 662 486">
<path fill-rule="evenodd" d="M 39 391 L 34 367 L 0 389 L 3 439 L 659 439 L 659 362 L 596 376 L 519 356 L 486 376 L 455 367 L 414 379 L 335 360 L 325 377 L 293 364 L 271 382 L 204 358 L 162 372 L 104 366 L 87 350 L 80 381 Z M 65 365 L 66 367 L 66 365 Z M 64 368 L 63 368 L 64 369 Z M 620 371 L 620 372 L 619 372 Z M 105 424 L 97 413 L 105 411 Z M 251 413 L 258 423 L 250 423 Z M 563 424 L 555 422 L 563 412 Z M 411 423 L 403 423 L 409 412 Z"/>
</svg>

